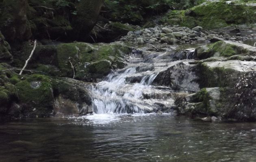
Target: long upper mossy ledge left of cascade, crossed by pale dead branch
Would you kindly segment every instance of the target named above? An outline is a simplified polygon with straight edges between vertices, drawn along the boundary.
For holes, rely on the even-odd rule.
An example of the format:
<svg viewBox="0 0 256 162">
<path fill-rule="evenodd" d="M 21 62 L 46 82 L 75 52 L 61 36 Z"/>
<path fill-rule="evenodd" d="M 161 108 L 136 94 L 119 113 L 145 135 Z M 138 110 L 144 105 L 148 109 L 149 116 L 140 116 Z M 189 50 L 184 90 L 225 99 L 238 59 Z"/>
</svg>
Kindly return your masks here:
<svg viewBox="0 0 256 162">
<path fill-rule="evenodd" d="M 29 42 L 13 49 L 13 66 L 22 68 L 32 49 L 33 44 Z M 39 43 L 27 68 L 55 77 L 96 81 L 104 78 L 111 70 L 124 67 L 125 56 L 132 49 L 121 42 L 109 44 L 74 42 L 56 45 Z"/>
</svg>

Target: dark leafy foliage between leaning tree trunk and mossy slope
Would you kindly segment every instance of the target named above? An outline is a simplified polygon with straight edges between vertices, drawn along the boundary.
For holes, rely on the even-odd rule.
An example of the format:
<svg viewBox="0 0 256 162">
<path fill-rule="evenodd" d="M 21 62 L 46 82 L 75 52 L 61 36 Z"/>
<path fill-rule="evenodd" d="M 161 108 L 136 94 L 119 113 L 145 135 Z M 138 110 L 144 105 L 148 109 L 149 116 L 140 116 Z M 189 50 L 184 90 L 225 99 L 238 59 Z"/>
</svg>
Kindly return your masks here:
<svg viewBox="0 0 256 162">
<path fill-rule="evenodd" d="M 105 0 L 104 17 L 111 21 L 139 24 L 143 19 L 169 9 L 188 9 L 204 0 Z"/>
</svg>

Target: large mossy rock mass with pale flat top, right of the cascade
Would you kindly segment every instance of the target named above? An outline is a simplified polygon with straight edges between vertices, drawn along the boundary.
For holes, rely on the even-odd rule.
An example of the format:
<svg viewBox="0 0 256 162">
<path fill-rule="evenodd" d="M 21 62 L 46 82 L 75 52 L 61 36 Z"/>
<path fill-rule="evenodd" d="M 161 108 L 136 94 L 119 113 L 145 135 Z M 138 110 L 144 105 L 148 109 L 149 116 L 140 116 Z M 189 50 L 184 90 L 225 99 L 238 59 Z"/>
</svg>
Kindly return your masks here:
<svg viewBox="0 0 256 162">
<path fill-rule="evenodd" d="M 178 114 L 211 121 L 256 121 L 256 47 L 219 41 L 195 49 L 201 90 L 177 94 Z M 205 118 L 202 118 L 205 117 Z"/>
</svg>

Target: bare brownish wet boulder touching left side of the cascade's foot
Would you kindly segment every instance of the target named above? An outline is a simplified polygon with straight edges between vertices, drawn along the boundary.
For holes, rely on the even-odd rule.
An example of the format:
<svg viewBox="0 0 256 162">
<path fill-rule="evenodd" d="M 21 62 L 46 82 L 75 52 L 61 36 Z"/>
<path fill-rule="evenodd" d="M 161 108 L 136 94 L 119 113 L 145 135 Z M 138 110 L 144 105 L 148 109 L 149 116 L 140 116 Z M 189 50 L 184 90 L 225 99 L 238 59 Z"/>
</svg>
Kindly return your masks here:
<svg viewBox="0 0 256 162">
<path fill-rule="evenodd" d="M 92 113 L 88 84 L 70 78 L 53 81 L 54 113 L 63 115 L 86 115 Z"/>
</svg>

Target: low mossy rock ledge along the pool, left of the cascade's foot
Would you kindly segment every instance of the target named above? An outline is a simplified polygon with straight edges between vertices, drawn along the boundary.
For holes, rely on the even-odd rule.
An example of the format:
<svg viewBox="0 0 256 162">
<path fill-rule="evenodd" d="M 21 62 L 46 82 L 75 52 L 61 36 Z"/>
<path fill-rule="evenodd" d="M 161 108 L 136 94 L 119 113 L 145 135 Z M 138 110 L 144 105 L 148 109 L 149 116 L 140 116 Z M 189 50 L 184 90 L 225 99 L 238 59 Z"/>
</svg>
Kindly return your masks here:
<svg viewBox="0 0 256 162">
<path fill-rule="evenodd" d="M 8 69 L 0 64 L 1 69 Z M 15 79 L 15 82 L 12 80 Z M 0 119 L 53 117 L 92 113 L 91 97 L 82 81 L 47 75 L 0 75 Z"/>
</svg>

